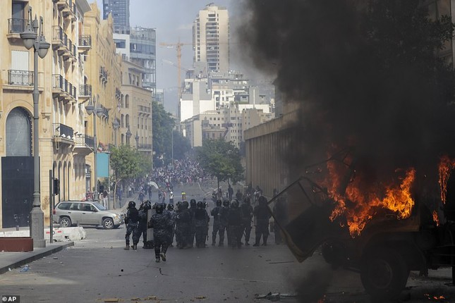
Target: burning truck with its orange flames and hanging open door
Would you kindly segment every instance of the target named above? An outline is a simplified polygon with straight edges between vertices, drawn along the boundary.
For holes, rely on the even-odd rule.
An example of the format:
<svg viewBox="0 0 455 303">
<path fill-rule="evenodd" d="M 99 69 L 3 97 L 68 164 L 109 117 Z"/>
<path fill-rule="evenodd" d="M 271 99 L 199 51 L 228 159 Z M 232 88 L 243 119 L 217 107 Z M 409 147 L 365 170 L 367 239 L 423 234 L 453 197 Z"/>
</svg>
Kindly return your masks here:
<svg viewBox="0 0 455 303">
<path fill-rule="evenodd" d="M 455 161 L 440 158 L 435 186 L 414 168 L 366 186 L 357 164 L 352 149 L 333 154 L 270 200 L 298 261 L 321 248 L 329 264 L 359 272 L 365 290 L 381 299 L 396 298 L 410 271 L 427 276 L 449 266 L 455 278 Z"/>
</svg>

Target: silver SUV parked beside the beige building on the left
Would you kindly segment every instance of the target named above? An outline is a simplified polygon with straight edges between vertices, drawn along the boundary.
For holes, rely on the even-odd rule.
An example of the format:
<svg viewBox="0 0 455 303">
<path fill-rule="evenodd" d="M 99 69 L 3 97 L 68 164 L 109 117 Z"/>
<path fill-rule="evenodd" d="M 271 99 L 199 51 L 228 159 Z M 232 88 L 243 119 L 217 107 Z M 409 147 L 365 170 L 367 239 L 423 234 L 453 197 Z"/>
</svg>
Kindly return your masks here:
<svg viewBox="0 0 455 303">
<path fill-rule="evenodd" d="M 119 228 L 123 215 L 109 211 L 97 202 L 62 201 L 54 208 L 54 222 L 61 227 L 72 225 L 102 225 L 104 229 Z"/>
</svg>

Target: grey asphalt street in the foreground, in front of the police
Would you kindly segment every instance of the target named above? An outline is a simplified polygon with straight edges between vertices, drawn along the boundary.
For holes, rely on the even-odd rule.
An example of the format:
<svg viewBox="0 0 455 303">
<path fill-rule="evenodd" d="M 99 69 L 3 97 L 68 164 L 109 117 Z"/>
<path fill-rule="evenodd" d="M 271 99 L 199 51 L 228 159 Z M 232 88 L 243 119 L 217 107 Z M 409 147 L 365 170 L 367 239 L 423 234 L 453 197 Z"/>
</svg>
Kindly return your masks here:
<svg viewBox="0 0 455 303">
<path fill-rule="evenodd" d="M 202 197 L 210 191 L 186 192 Z M 142 242 L 137 251 L 123 249 L 123 226 L 85 230 L 87 238 L 73 247 L 32 261 L 27 271 L 1 274 L 0 295 L 20 296 L 22 303 L 375 302 L 358 273 L 332 271 L 318 252 L 298 263 L 286 245 L 274 245 L 273 234 L 267 247 L 172 247 L 167 261 L 156 263 L 153 250 L 142 249 Z M 411 272 L 396 302 L 455 302 L 450 273 L 430 271 L 425 278 Z"/>
</svg>

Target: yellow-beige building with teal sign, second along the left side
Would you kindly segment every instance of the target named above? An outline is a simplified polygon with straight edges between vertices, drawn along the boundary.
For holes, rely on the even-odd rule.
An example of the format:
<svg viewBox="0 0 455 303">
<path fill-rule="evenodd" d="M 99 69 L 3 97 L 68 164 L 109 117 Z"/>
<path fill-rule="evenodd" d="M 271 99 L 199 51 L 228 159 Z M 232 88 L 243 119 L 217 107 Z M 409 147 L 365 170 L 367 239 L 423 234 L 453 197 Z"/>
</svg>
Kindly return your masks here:
<svg viewBox="0 0 455 303">
<path fill-rule="evenodd" d="M 92 96 L 82 104 L 84 111 L 84 132 L 89 139 L 96 137 L 97 147 L 97 179 L 104 186 L 109 180 L 109 144 L 118 140 L 119 132 L 114 132 L 113 122 L 116 109 L 121 104 L 121 56 L 116 54 L 113 38 L 114 21 L 111 17 L 100 20 L 97 4 L 90 4 L 92 10 L 85 14 L 84 30 L 94 37 L 92 49 L 85 57 L 87 85 L 91 85 Z M 92 104 L 101 114 L 88 115 L 86 106 Z M 94 127 L 96 123 L 96 127 Z M 95 153 L 90 153 L 85 159 L 86 189 L 95 190 Z"/>
</svg>

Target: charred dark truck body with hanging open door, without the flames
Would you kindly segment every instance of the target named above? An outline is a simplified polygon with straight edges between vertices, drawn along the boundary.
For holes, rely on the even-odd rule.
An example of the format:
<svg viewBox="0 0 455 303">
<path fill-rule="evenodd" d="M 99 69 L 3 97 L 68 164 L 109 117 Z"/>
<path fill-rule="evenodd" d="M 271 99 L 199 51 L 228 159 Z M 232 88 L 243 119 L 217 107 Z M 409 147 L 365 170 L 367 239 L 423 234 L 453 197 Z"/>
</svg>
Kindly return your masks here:
<svg viewBox="0 0 455 303">
<path fill-rule="evenodd" d="M 344 157 L 335 156 L 321 163 L 327 161 L 342 162 Z M 346 169 L 347 186 L 355 170 L 353 165 L 346 165 Z M 280 201 L 286 207 L 287 218 L 276 216 L 274 209 Z M 452 280 L 455 278 L 455 221 L 447 216 L 447 207 L 441 208 L 442 224 L 434 221 L 430 209 L 418 199 L 408 218 L 399 219 L 392 211 L 378 208 L 360 235 L 352 237 L 344 216 L 330 219 L 336 202 L 313 178 L 302 176 L 270 199 L 268 205 L 274 224 L 298 261 L 320 248 L 334 269 L 360 273 L 372 297 L 399 297 L 410 271 L 427 276 L 429 269 L 451 267 Z"/>
</svg>

